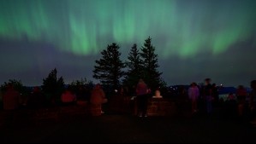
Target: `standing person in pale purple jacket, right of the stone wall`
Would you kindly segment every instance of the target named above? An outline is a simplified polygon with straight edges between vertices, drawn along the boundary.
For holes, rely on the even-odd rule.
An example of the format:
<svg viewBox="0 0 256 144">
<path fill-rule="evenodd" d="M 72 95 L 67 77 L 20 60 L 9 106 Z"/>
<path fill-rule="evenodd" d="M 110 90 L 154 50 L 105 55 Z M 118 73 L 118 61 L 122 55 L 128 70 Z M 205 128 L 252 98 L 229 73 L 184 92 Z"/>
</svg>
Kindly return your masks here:
<svg viewBox="0 0 256 144">
<path fill-rule="evenodd" d="M 197 84 L 190 84 L 190 88 L 188 89 L 189 99 L 192 101 L 192 112 L 197 112 L 197 101 L 199 98 L 199 88 Z"/>
</svg>

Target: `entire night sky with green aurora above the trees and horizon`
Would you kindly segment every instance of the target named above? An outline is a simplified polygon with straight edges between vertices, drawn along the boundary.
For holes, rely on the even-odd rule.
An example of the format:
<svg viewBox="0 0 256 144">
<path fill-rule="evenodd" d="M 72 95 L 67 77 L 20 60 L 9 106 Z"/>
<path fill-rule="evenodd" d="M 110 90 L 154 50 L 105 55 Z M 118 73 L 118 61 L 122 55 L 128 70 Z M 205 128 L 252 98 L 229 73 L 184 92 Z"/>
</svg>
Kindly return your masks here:
<svg viewBox="0 0 256 144">
<path fill-rule="evenodd" d="M 107 44 L 126 60 L 149 36 L 168 84 L 256 79 L 255 0 L 1 0 L 0 84 L 40 85 L 54 67 L 66 84 L 94 80 Z"/>
</svg>

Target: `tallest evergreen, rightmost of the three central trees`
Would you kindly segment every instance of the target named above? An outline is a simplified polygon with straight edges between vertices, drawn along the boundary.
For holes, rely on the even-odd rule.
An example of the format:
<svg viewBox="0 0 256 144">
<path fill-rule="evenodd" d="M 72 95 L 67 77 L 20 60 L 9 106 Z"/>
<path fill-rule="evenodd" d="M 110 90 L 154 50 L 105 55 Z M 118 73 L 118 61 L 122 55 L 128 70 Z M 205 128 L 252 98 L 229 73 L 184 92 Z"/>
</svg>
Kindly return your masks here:
<svg viewBox="0 0 256 144">
<path fill-rule="evenodd" d="M 152 45 L 152 38 L 148 37 L 141 48 L 140 56 L 143 63 L 142 78 L 152 88 L 156 89 L 162 85 L 160 78 L 162 72 L 158 72 L 158 55 L 155 54 L 155 47 Z"/>
</svg>

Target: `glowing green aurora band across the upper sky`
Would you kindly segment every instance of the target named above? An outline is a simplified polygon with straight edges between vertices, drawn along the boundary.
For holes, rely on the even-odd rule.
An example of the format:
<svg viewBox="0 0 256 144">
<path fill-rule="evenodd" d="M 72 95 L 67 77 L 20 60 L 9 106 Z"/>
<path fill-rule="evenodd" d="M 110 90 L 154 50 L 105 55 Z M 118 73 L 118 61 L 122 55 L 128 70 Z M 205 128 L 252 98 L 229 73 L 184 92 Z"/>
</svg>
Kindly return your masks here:
<svg viewBox="0 0 256 144">
<path fill-rule="evenodd" d="M 164 57 L 186 58 L 202 49 L 217 55 L 254 34 L 255 8 L 253 1 L 231 0 L 2 0 L 0 37 L 97 55 L 110 40 L 134 43 L 152 36 L 164 37 L 155 42 Z"/>
</svg>

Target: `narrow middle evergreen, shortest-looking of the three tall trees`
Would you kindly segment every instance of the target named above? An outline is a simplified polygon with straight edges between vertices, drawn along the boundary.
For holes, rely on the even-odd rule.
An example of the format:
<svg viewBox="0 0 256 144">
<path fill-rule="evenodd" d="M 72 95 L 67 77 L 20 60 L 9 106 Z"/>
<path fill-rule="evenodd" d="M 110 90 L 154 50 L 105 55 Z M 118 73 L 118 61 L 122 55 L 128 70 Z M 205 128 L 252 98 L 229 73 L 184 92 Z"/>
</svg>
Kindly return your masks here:
<svg viewBox="0 0 256 144">
<path fill-rule="evenodd" d="M 123 83 L 129 87 L 132 87 L 138 83 L 142 70 L 142 61 L 140 60 L 139 49 L 135 43 L 128 54 L 128 60 L 125 62 L 125 66 L 128 68 L 128 70 Z"/>
</svg>

